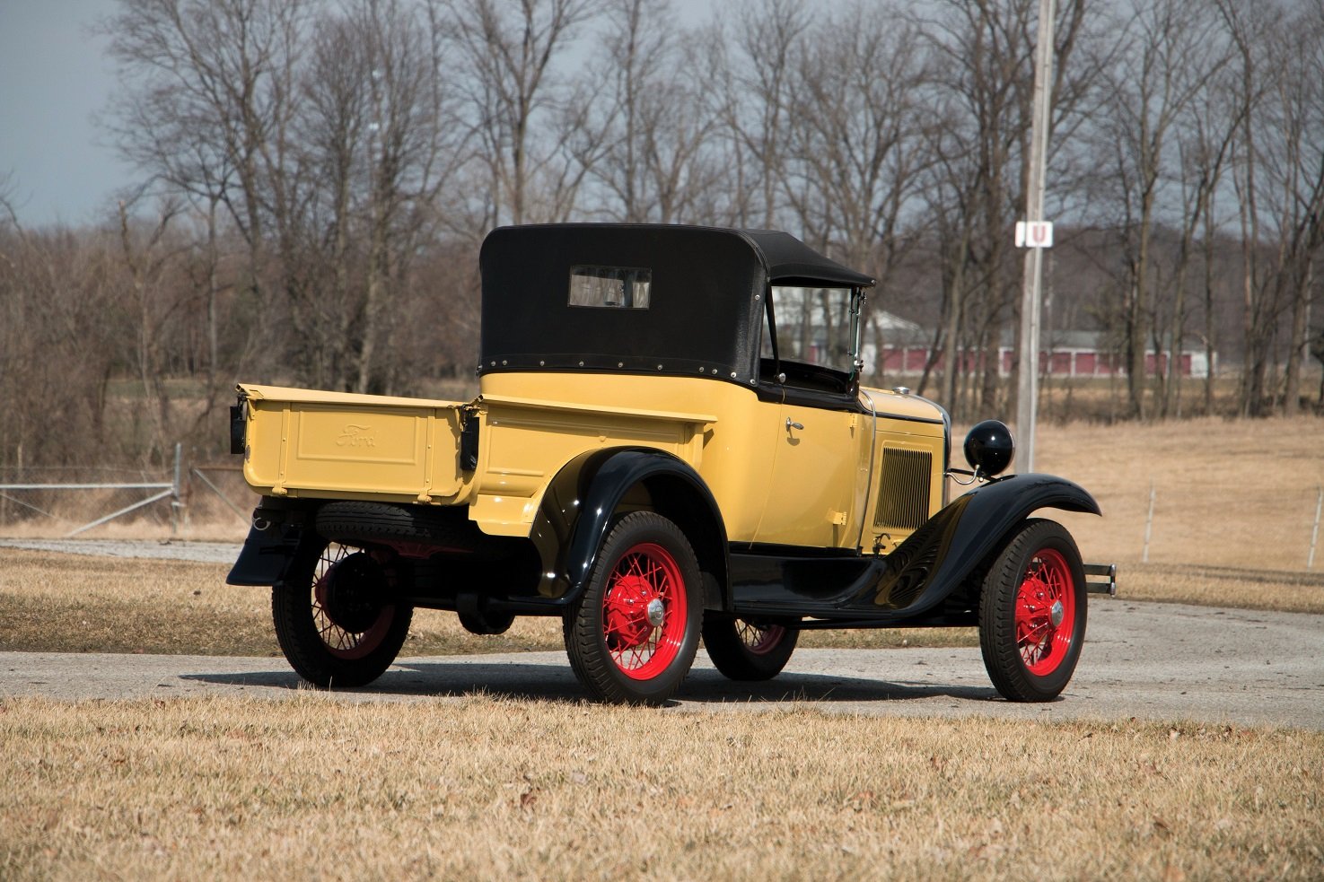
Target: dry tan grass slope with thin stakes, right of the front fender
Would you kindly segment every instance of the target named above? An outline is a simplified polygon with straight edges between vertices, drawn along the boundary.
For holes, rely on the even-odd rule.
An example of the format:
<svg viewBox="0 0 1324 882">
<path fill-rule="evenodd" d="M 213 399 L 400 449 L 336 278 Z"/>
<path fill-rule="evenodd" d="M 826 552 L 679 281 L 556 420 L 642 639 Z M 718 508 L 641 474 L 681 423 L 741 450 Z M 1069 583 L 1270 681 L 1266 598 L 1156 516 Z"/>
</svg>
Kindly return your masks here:
<svg viewBox="0 0 1324 882">
<path fill-rule="evenodd" d="M 1102 519 L 1062 518 L 1086 559 L 1141 560 L 1152 483 L 1151 563 L 1299 572 L 1324 486 L 1321 441 L 1319 417 L 1075 422 L 1039 430 L 1034 467 L 1080 483 L 1103 507 Z M 1324 547 L 1315 569 L 1324 572 Z"/>
</svg>

